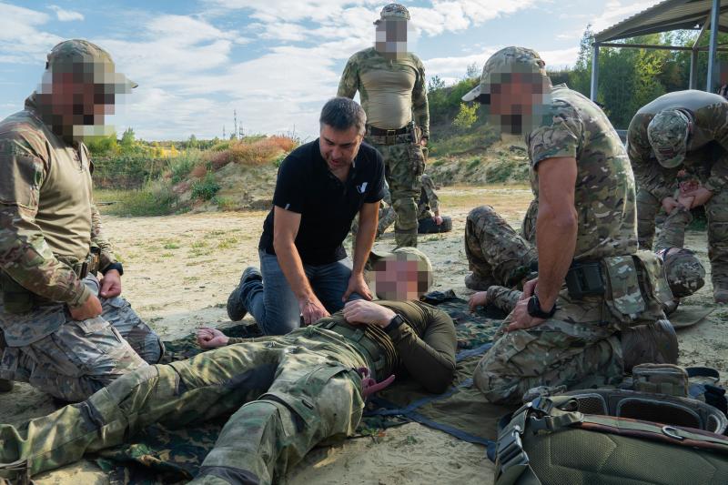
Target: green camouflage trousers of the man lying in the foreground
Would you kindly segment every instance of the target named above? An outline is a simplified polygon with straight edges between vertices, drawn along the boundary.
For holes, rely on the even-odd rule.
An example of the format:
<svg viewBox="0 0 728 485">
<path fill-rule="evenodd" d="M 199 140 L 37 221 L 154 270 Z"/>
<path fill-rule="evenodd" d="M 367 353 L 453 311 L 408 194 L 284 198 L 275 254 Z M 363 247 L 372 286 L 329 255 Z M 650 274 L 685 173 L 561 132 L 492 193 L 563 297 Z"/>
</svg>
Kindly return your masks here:
<svg viewBox="0 0 728 485">
<path fill-rule="evenodd" d="M 150 423 L 183 428 L 234 413 L 193 482 L 278 481 L 317 443 L 356 429 L 361 367 L 370 363 L 347 339 L 308 327 L 137 369 L 26 427 L 0 425 L 0 476 L 52 470 Z"/>
</svg>

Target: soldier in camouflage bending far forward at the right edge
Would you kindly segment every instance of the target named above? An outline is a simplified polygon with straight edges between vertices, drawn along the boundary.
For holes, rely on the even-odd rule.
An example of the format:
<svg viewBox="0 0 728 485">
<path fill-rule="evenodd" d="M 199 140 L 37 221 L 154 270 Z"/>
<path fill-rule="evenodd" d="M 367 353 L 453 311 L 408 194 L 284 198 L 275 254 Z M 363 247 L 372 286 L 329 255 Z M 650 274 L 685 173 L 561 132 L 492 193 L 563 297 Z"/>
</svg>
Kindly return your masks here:
<svg viewBox="0 0 728 485">
<path fill-rule="evenodd" d="M 713 297 L 728 302 L 728 101 L 695 90 L 660 96 L 632 118 L 627 150 L 640 186 L 640 247 L 652 247 L 661 206 L 670 213 L 678 194 L 694 197 L 692 207 L 704 205 L 708 218 Z M 695 187 L 686 191 L 681 174 Z"/>
</svg>

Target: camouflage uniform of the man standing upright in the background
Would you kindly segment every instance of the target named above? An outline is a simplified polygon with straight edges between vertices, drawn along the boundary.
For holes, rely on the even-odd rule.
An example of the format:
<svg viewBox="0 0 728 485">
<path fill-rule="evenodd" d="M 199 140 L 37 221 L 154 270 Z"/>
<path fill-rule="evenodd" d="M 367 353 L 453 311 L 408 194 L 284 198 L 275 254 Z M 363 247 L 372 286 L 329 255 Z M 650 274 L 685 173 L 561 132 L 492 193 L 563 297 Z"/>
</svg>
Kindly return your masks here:
<svg viewBox="0 0 728 485">
<path fill-rule="evenodd" d="M 369 92 L 374 86 L 379 74 L 404 72 L 414 74 L 414 86 L 407 95 L 410 96 L 411 106 L 406 113 L 400 114 L 399 126 L 368 126 L 366 141 L 375 147 L 384 157 L 385 176 L 391 191 L 392 204 L 396 214 L 394 230 L 395 241 L 398 247 L 417 246 L 417 197 L 420 195 L 420 176 L 424 172 L 425 157 L 422 147 L 417 143 L 420 137 L 430 136 L 430 112 L 427 101 L 427 86 L 425 84 L 425 68 L 420 58 L 407 53 L 403 58 L 389 60 L 370 47 L 359 51 L 349 58 L 344 73 L 339 82 L 337 96 L 354 98 L 359 91 L 361 106 L 371 119 L 371 101 Z M 394 96 L 394 95 L 392 95 Z M 414 116 L 414 123 L 418 126 L 420 136 L 408 132 L 401 135 L 384 136 L 372 135 L 371 128 L 400 129 L 408 126 Z"/>
</svg>

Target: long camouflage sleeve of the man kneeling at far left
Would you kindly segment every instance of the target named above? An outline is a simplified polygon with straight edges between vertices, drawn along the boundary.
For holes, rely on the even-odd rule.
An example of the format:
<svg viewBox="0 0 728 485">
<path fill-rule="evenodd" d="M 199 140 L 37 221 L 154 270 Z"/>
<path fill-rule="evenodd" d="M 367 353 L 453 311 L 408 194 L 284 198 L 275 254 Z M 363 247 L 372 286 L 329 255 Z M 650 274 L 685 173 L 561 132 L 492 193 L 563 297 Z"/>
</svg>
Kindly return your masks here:
<svg viewBox="0 0 728 485">
<path fill-rule="evenodd" d="M 76 306 L 91 292 L 58 261 L 35 224 L 45 169 L 15 142 L 0 144 L 0 268 L 36 295 Z"/>
</svg>

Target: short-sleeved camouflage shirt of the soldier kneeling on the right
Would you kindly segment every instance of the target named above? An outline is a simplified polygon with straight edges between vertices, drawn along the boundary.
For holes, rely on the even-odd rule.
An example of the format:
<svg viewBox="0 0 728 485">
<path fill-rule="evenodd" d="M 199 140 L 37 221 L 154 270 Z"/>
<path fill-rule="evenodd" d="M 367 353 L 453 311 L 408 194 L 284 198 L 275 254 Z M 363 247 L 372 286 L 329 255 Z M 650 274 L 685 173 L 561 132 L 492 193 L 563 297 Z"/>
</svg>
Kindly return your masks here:
<svg viewBox="0 0 728 485">
<path fill-rule="evenodd" d="M 574 157 L 578 215 L 575 260 L 631 255 L 637 251 L 634 176 L 620 137 L 602 110 L 565 85 L 551 90 L 541 126 L 525 136 L 531 186 L 538 194 L 541 160 Z M 537 196 L 538 197 L 538 196 Z"/>
</svg>

